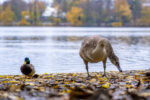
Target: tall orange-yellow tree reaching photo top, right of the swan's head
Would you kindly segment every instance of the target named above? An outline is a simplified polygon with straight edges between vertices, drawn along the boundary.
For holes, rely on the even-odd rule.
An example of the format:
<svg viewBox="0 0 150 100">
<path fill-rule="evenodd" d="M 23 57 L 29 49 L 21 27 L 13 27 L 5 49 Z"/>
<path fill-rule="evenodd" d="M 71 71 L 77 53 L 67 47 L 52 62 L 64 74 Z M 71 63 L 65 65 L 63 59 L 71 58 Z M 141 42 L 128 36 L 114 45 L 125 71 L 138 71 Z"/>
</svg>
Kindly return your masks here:
<svg viewBox="0 0 150 100">
<path fill-rule="evenodd" d="M 122 24 L 130 23 L 132 20 L 132 13 L 130 6 L 126 0 L 114 1 L 115 18 Z"/>
</svg>

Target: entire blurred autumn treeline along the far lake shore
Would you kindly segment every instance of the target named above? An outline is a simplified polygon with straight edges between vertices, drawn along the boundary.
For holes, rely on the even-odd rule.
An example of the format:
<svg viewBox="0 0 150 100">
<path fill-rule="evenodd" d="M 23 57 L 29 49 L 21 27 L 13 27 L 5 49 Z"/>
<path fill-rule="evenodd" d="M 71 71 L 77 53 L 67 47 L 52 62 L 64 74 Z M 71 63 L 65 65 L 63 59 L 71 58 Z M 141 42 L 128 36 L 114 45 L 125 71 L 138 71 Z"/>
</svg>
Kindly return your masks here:
<svg viewBox="0 0 150 100">
<path fill-rule="evenodd" d="M 44 0 L 31 1 L 5 1 L 0 25 L 150 26 L 150 0 L 54 0 L 51 16 Z"/>
</svg>

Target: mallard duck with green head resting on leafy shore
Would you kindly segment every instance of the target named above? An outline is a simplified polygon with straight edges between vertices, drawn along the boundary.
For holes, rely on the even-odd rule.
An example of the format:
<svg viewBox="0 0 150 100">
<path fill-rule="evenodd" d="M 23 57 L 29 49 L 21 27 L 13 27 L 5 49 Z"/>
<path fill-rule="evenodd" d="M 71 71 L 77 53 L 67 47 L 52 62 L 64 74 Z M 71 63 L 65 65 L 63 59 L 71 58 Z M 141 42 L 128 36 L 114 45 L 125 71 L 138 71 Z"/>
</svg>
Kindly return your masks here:
<svg viewBox="0 0 150 100">
<path fill-rule="evenodd" d="M 25 58 L 24 64 L 20 68 L 22 74 L 28 77 L 32 77 L 35 73 L 34 66 L 30 64 L 30 59 L 28 57 Z"/>
</svg>

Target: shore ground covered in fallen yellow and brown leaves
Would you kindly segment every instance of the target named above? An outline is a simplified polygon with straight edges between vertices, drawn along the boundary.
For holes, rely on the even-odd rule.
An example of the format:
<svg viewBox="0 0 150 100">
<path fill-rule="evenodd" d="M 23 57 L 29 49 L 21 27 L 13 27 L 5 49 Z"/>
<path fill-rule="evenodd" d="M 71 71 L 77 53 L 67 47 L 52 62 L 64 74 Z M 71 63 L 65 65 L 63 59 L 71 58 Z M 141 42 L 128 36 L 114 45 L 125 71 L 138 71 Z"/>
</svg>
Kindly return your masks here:
<svg viewBox="0 0 150 100">
<path fill-rule="evenodd" d="M 0 75 L 0 100 L 150 100 L 150 70 Z M 147 75 L 147 76 L 146 76 Z"/>
</svg>

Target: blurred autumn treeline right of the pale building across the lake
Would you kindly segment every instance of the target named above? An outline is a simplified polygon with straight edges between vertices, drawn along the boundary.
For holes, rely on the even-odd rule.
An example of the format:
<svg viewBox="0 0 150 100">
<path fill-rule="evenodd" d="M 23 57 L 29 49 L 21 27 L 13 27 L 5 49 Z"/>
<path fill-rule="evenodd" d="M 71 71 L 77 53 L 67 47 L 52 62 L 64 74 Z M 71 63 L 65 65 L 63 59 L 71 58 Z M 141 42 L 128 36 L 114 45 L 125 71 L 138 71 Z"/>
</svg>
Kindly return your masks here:
<svg viewBox="0 0 150 100">
<path fill-rule="evenodd" d="M 148 0 L 54 0 L 53 6 L 73 26 L 150 26 Z"/>
</svg>

